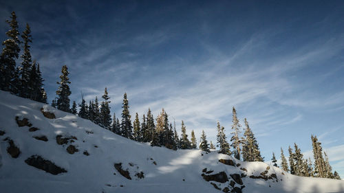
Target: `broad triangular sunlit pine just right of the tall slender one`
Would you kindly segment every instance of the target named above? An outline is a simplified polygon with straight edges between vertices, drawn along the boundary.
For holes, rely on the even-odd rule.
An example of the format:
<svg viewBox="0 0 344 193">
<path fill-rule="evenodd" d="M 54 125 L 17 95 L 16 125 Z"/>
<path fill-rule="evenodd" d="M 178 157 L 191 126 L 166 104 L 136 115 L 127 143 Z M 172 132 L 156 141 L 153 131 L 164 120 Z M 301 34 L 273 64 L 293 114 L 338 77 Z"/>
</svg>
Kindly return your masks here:
<svg viewBox="0 0 344 193">
<path fill-rule="evenodd" d="M 245 118 L 245 139 L 242 141 L 242 157 L 244 161 L 264 161 L 261 157 L 259 146 L 255 135 L 252 133 L 250 126 Z"/>
</svg>

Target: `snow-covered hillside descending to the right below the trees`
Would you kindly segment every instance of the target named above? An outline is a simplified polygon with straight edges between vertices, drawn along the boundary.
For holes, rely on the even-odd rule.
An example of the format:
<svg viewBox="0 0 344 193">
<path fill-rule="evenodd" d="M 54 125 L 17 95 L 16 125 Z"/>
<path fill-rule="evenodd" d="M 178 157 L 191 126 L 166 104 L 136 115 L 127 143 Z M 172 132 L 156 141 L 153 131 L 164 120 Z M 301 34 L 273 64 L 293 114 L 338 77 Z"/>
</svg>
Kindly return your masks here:
<svg viewBox="0 0 344 193">
<path fill-rule="evenodd" d="M 49 119 L 42 111 L 56 117 Z M 344 192 L 344 182 L 296 177 L 266 163 L 246 163 L 216 151 L 151 147 L 47 104 L 0 91 L 0 192 L 222 190 Z"/>
</svg>

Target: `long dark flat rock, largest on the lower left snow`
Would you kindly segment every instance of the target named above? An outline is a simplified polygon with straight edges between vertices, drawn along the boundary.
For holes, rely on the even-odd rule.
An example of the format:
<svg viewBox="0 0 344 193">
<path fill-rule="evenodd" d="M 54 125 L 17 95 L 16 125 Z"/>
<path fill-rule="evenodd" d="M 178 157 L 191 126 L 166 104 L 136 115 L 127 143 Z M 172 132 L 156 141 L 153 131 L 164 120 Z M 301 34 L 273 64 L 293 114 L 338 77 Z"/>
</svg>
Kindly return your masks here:
<svg viewBox="0 0 344 193">
<path fill-rule="evenodd" d="M 55 163 L 53 163 L 52 161 L 43 159 L 39 155 L 32 155 L 31 157 L 25 160 L 25 163 L 27 163 L 29 166 L 33 166 L 34 168 L 44 170 L 45 172 L 54 175 L 67 172 L 67 170 L 56 166 Z"/>
</svg>

